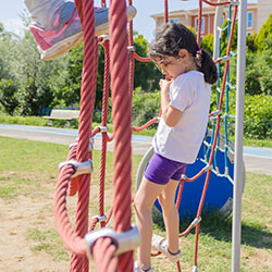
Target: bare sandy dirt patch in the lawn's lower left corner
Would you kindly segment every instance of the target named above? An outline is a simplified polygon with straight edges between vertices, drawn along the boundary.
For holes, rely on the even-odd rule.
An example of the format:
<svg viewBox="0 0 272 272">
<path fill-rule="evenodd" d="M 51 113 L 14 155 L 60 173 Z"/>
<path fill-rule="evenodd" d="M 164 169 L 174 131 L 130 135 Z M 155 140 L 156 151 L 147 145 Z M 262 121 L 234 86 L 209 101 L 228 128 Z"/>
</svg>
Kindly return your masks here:
<svg viewBox="0 0 272 272">
<path fill-rule="evenodd" d="M 45 212 L 51 206 L 49 196 L 0 199 L 0 271 L 69 271 L 69 260 L 55 261 L 44 250 L 33 250 L 35 242 L 27 238 L 29 230 L 54 227 L 52 210 Z"/>
</svg>

